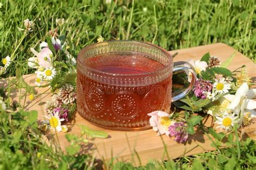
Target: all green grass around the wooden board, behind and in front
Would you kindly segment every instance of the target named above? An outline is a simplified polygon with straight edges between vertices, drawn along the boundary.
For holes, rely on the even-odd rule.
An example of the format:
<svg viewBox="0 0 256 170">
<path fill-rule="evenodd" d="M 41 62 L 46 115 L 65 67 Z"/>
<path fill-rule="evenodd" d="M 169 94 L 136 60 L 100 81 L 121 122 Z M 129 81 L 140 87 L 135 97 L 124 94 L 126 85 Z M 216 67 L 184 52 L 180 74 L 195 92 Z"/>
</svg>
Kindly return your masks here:
<svg viewBox="0 0 256 170">
<path fill-rule="evenodd" d="M 33 56 L 30 47 L 38 47 L 50 30 L 58 29 L 75 45 L 73 54 L 84 46 L 105 40 L 131 39 L 152 42 L 168 50 L 224 42 L 254 62 L 256 16 L 254 1 L 2 1 L 0 4 L 0 56 L 14 58 L 5 77 L 33 73 L 26 60 Z M 25 35 L 17 27 L 23 20 L 35 23 Z M 56 18 L 65 18 L 63 26 Z M 87 154 L 64 154 L 53 150 L 37 132 L 28 112 L 0 114 L 0 169 L 93 168 L 94 158 Z M 34 122 L 33 122 L 34 121 Z M 235 133 L 235 132 L 234 132 Z M 215 147 L 221 144 L 218 135 Z M 228 136 L 228 138 L 231 138 Z M 77 139 L 78 140 L 78 139 Z M 253 168 L 256 165 L 253 140 L 233 142 L 230 147 L 165 162 L 151 161 L 138 169 Z M 75 147 L 75 146 L 74 146 Z M 72 151 L 72 148 L 70 148 Z M 107 169 L 133 169 L 129 162 L 104 162 Z"/>
</svg>

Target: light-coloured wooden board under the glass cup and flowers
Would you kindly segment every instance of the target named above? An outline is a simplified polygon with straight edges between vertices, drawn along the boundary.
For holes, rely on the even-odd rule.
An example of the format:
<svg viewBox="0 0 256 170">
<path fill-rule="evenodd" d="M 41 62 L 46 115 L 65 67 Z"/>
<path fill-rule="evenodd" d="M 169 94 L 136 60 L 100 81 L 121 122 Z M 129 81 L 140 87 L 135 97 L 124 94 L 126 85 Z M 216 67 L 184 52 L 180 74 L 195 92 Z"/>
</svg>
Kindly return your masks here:
<svg viewBox="0 0 256 170">
<path fill-rule="evenodd" d="M 224 61 L 228 58 L 235 50 L 230 46 L 227 46 L 222 43 L 205 45 L 193 48 L 178 49 L 176 51 L 171 51 L 171 54 L 178 52 L 178 55 L 174 58 L 174 61 L 186 61 L 188 59 L 198 60 L 201 56 L 207 52 L 210 52 L 211 55 L 218 56 L 221 61 Z M 242 65 L 246 65 L 248 68 L 248 74 L 252 76 L 253 81 L 256 80 L 256 66 L 255 64 L 246 56 L 237 52 L 234 60 L 232 61 L 231 70 L 237 69 Z M 25 75 L 25 81 L 31 85 L 35 81 L 35 75 Z M 1 80 L 2 86 L 6 88 L 6 80 Z M 0 84 L 0 87 L 1 87 Z M 38 93 L 43 93 L 43 95 L 38 96 L 34 101 L 26 101 L 25 108 L 27 110 L 37 110 L 39 113 L 39 119 L 42 119 L 44 115 L 44 104 L 46 101 L 51 100 L 51 93 L 47 88 L 37 89 Z M 46 91 L 46 92 L 45 92 Z M 12 100 L 19 101 L 19 94 L 17 90 L 13 89 Z M 21 98 L 23 101 L 24 97 Z M 170 139 L 167 136 L 161 137 L 156 136 L 154 131 L 144 130 L 144 131 L 135 131 L 135 132 L 124 132 L 124 131 L 112 131 L 98 128 L 95 125 L 90 124 L 85 121 L 79 114 L 76 114 L 76 124 L 84 124 L 89 126 L 91 129 L 95 130 L 104 130 L 109 134 L 109 137 L 106 139 L 95 139 L 93 140 L 94 145 L 89 145 L 85 147 L 85 151 L 96 154 L 96 158 L 109 160 L 112 157 L 118 157 L 118 160 L 123 161 L 132 161 L 132 164 L 138 164 L 138 158 L 134 151 L 139 154 L 140 161 L 145 165 L 150 159 L 157 160 L 166 160 L 167 155 L 164 153 L 164 144 L 166 144 L 169 157 L 171 159 L 183 157 L 184 155 L 192 155 L 203 153 L 206 151 L 214 150 L 210 146 L 211 141 L 208 139 L 203 132 L 197 132 L 196 135 L 190 136 L 188 143 L 186 144 L 177 144 L 176 141 Z M 210 117 L 205 122 L 206 125 L 210 126 L 212 124 L 212 118 Z M 247 136 L 256 139 L 256 123 L 254 122 L 244 128 Z M 73 126 L 69 133 L 79 134 L 80 130 L 77 125 Z M 68 145 L 68 142 L 65 139 L 65 133 L 59 132 L 58 138 L 60 145 L 64 148 Z M 96 149 L 97 148 L 97 149 Z"/>
</svg>

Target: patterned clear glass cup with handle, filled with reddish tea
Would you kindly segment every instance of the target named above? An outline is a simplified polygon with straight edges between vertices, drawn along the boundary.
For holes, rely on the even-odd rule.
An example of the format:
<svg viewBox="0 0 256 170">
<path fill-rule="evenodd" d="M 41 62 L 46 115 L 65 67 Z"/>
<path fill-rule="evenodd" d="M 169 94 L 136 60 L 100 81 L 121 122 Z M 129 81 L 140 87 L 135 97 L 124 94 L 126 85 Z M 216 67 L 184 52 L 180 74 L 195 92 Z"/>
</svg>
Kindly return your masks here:
<svg viewBox="0 0 256 170">
<path fill-rule="evenodd" d="M 190 75 L 172 92 L 172 74 Z M 174 62 L 153 44 L 116 40 L 89 45 L 77 59 L 77 111 L 87 121 L 112 130 L 150 128 L 152 111 L 170 112 L 171 102 L 184 97 L 196 81 L 190 63 Z"/>
</svg>

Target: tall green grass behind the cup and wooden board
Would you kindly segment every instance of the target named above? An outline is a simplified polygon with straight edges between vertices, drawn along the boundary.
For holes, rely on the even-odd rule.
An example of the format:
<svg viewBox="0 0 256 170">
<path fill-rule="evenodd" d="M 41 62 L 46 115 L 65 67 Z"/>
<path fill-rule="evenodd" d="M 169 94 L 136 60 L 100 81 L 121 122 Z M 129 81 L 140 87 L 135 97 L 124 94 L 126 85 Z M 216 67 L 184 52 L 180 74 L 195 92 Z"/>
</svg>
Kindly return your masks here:
<svg viewBox="0 0 256 170">
<path fill-rule="evenodd" d="M 14 75 L 17 64 L 24 74 L 31 70 L 26 59 L 35 47 L 55 28 L 70 37 L 74 53 L 105 40 L 131 39 L 152 42 L 168 50 L 224 42 L 253 61 L 256 29 L 254 1 L 2 1 L 0 9 L 1 58 L 14 55 L 5 76 Z M 35 22 L 32 33 L 23 38 L 17 27 L 23 20 Z M 62 27 L 56 18 L 65 18 Z"/>
</svg>

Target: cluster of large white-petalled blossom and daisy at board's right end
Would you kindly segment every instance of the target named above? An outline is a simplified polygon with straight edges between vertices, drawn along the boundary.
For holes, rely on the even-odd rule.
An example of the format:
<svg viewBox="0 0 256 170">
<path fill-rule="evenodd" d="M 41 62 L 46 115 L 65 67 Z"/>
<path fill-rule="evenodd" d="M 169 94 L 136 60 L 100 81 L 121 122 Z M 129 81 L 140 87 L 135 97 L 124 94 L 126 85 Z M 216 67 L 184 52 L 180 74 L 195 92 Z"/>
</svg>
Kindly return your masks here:
<svg viewBox="0 0 256 170">
<path fill-rule="evenodd" d="M 256 117 L 256 101 L 252 100 L 256 96 L 256 89 L 249 89 L 247 83 L 243 83 L 235 95 L 226 94 L 219 98 L 219 105 L 208 110 L 208 114 L 215 117 L 217 128 L 221 130 L 231 130 L 234 124 L 239 127 L 250 124 L 251 118 Z"/>
</svg>

